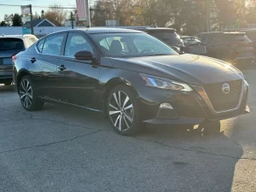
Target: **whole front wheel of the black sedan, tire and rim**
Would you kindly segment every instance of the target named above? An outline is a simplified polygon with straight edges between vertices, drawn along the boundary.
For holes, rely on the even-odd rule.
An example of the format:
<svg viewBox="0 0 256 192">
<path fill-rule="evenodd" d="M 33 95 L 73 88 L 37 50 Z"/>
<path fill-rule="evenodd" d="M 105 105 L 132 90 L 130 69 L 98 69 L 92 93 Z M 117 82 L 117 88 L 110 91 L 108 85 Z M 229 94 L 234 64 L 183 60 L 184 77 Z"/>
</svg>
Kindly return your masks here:
<svg viewBox="0 0 256 192">
<path fill-rule="evenodd" d="M 114 131 L 120 135 L 131 136 L 142 125 L 135 94 L 125 85 L 113 88 L 108 95 L 107 115 Z"/>
</svg>

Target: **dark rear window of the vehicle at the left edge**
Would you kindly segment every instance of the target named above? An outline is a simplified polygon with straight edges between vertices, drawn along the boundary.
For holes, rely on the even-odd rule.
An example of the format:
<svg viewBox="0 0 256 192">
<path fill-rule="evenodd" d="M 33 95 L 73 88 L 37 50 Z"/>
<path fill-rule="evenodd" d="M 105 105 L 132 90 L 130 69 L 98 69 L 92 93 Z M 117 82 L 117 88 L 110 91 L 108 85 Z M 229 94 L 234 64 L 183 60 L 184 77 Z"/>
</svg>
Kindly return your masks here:
<svg viewBox="0 0 256 192">
<path fill-rule="evenodd" d="M 24 49 L 23 40 L 20 38 L 0 38 L 1 50 Z"/>
</svg>

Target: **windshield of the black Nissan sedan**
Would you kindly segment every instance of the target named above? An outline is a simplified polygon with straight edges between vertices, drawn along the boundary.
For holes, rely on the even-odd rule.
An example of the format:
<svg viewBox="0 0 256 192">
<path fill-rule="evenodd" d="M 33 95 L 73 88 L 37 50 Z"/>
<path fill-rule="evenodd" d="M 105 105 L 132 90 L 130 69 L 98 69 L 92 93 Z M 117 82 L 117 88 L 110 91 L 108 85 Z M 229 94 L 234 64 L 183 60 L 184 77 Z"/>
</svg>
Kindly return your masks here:
<svg viewBox="0 0 256 192">
<path fill-rule="evenodd" d="M 146 33 L 104 33 L 91 36 L 105 55 L 112 57 L 178 55 L 171 47 Z"/>
</svg>

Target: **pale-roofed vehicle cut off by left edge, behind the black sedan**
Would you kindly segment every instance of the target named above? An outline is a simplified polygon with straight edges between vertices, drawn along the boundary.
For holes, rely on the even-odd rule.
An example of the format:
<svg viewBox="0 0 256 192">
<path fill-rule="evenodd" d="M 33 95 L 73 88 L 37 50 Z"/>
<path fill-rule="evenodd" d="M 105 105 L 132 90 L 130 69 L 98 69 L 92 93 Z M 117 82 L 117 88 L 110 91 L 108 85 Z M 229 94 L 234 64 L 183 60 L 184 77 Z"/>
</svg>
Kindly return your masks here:
<svg viewBox="0 0 256 192">
<path fill-rule="evenodd" d="M 33 35 L 0 36 L 0 84 L 9 85 L 13 79 L 12 58 L 20 51 L 34 44 L 38 38 Z"/>
</svg>

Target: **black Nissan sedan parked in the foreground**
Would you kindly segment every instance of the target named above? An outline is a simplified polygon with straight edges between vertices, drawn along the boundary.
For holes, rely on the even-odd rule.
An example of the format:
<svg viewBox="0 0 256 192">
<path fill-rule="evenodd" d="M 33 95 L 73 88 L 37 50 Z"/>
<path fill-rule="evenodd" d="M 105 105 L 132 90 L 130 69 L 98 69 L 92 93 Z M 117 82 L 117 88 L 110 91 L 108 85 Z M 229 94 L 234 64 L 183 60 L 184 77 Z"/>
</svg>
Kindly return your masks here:
<svg viewBox="0 0 256 192">
<path fill-rule="evenodd" d="M 248 84 L 224 61 L 179 55 L 144 32 L 91 28 L 56 32 L 16 55 L 22 106 L 59 102 L 108 116 L 131 135 L 142 123 L 215 125 L 248 113 Z M 216 123 L 217 122 L 217 123 Z"/>
</svg>

